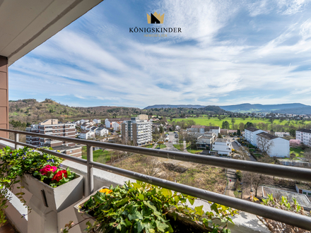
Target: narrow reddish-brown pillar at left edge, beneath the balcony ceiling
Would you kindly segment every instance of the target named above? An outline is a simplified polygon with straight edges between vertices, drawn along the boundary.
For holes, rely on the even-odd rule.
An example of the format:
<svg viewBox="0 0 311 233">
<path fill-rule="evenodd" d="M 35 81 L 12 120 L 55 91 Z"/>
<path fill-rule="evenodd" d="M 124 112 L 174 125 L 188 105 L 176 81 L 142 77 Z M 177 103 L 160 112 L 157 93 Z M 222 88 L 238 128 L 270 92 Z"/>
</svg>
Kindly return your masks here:
<svg viewBox="0 0 311 233">
<path fill-rule="evenodd" d="M 0 128 L 8 129 L 8 58 L 0 56 Z M 8 133 L 0 131 L 0 137 Z"/>
</svg>

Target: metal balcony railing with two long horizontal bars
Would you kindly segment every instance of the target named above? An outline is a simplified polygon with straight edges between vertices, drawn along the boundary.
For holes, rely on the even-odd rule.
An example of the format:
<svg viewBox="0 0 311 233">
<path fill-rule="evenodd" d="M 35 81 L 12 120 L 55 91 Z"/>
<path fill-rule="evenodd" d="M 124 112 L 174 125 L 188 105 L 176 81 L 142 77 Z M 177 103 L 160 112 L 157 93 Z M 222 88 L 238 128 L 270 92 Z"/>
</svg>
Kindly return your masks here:
<svg viewBox="0 0 311 233">
<path fill-rule="evenodd" d="M 20 143 L 18 141 L 19 134 L 64 141 L 64 137 L 48 136 L 46 134 L 42 135 L 41 133 L 14 131 L 10 129 L 0 129 L 0 131 L 14 133 L 15 140 L 10 140 L 10 139 L 1 138 L 1 137 L 0 137 L 0 140 L 8 141 L 9 143 L 14 143 L 16 149 L 18 148 L 18 145 L 27 146 L 29 148 L 37 148 L 33 145 L 28 145 L 26 143 Z M 239 198 L 225 196 L 223 194 L 214 193 L 212 191 L 206 191 L 204 189 L 198 189 L 198 188 L 187 186 L 184 184 L 178 184 L 178 183 L 168 181 L 165 179 L 159 179 L 156 177 L 147 176 L 145 174 L 131 172 L 126 169 L 120 169 L 118 167 L 112 167 L 110 165 L 104 165 L 98 162 L 93 162 L 93 146 L 100 147 L 100 148 L 108 148 L 112 150 L 122 150 L 122 151 L 129 152 L 129 153 L 139 153 L 143 155 L 163 157 L 163 158 L 168 158 L 172 160 L 181 160 L 184 162 L 195 162 L 195 163 L 199 163 L 203 165 L 212 165 L 216 167 L 238 169 L 238 170 L 242 170 L 246 172 L 255 172 L 255 173 L 260 173 L 260 174 L 266 174 L 269 176 L 296 179 L 296 180 L 307 181 L 307 182 L 311 181 L 311 169 L 305 169 L 305 168 L 300 168 L 300 167 L 287 167 L 283 165 L 271 165 L 271 164 L 266 164 L 262 162 L 251 162 L 251 161 L 245 161 L 245 160 L 230 160 L 230 159 L 226 159 L 222 157 L 192 155 L 192 154 L 175 152 L 175 151 L 155 150 L 155 149 L 150 149 L 150 148 L 140 148 L 140 147 L 135 147 L 135 146 L 130 146 L 130 145 L 119 145 L 119 144 L 113 144 L 113 143 L 102 143 L 98 141 L 88 141 L 88 140 L 77 139 L 77 138 L 66 138 L 66 141 L 71 142 L 71 143 L 79 143 L 79 144 L 87 145 L 87 160 L 83 160 L 78 157 L 72 157 L 70 155 L 64 155 L 62 153 L 57 153 L 52 150 L 42 150 L 42 151 L 45 153 L 51 154 L 51 155 L 56 155 L 58 157 L 64 158 L 65 160 L 71 160 L 73 162 L 77 162 L 78 164 L 87 166 L 88 189 L 86 191 L 86 196 L 90 195 L 90 193 L 93 193 L 94 191 L 93 169 L 96 168 L 96 169 L 101 169 L 106 172 L 119 174 L 124 177 L 129 177 L 131 179 L 136 179 L 139 181 L 150 183 L 155 186 L 161 186 L 165 189 L 171 189 L 171 190 L 174 190 L 180 193 L 185 193 L 191 196 L 195 196 L 197 198 L 201 198 L 206 201 L 219 203 L 221 205 L 227 205 L 237 210 L 243 210 L 247 213 L 252 213 L 254 215 L 266 217 L 271 220 L 276 220 L 278 222 L 284 222 L 288 225 L 293 225 L 295 227 L 300 227 L 300 228 L 307 229 L 307 230 L 311 229 L 311 217 L 307 217 L 304 215 L 298 215 L 296 213 L 291 213 L 286 210 L 271 208 L 266 205 L 252 203 L 250 201 L 244 201 Z"/>
</svg>

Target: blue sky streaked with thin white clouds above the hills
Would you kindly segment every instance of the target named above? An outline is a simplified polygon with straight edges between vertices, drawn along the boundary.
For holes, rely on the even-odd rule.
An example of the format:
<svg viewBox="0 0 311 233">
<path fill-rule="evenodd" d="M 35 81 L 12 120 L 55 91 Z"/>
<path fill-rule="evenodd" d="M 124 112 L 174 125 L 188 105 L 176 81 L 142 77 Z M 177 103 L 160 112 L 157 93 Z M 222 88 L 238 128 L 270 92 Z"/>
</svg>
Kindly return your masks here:
<svg viewBox="0 0 311 233">
<path fill-rule="evenodd" d="M 9 67 L 9 100 L 311 105 L 310 1 L 105 0 Z M 182 33 L 129 32 L 154 11 Z"/>
</svg>

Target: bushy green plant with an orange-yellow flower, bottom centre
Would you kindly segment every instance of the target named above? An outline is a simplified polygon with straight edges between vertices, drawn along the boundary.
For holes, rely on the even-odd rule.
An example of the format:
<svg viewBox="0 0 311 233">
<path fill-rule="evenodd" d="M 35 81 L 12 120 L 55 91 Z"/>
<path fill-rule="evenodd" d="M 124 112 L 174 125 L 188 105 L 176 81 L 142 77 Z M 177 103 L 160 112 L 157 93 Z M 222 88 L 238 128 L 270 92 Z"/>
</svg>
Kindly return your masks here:
<svg viewBox="0 0 311 233">
<path fill-rule="evenodd" d="M 204 213 L 203 205 L 187 205 L 195 199 L 141 181 L 103 187 L 74 207 L 78 222 L 69 222 L 61 232 L 76 225 L 82 232 L 230 232 L 230 215 L 237 210 L 210 203 L 212 211 Z"/>
</svg>

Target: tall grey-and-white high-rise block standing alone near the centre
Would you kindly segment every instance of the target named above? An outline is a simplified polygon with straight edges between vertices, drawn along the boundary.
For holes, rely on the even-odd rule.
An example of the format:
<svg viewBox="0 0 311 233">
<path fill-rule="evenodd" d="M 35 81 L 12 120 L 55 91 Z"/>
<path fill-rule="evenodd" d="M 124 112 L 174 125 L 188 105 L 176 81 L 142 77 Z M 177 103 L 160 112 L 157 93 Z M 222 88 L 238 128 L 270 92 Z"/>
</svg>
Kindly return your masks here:
<svg viewBox="0 0 311 233">
<path fill-rule="evenodd" d="M 151 121 L 139 120 L 139 117 L 123 121 L 121 124 L 122 142 L 132 141 L 134 145 L 150 143 L 152 141 L 151 124 Z"/>
</svg>

